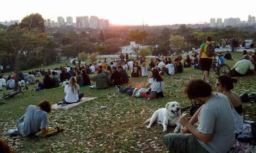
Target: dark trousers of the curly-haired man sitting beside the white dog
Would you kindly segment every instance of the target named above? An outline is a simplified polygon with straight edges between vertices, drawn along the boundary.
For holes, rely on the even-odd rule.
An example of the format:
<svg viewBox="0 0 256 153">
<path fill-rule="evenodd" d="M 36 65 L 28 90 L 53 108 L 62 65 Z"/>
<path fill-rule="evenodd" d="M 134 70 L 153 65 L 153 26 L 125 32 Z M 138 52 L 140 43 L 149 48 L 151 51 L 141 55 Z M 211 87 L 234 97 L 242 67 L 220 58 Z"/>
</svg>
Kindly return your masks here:
<svg viewBox="0 0 256 153">
<path fill-rule="evenodd" d="M 164 136 L 164 143 L 169 152 L 209 153 L 192 134 L 169 133 Z"/>
</svg>

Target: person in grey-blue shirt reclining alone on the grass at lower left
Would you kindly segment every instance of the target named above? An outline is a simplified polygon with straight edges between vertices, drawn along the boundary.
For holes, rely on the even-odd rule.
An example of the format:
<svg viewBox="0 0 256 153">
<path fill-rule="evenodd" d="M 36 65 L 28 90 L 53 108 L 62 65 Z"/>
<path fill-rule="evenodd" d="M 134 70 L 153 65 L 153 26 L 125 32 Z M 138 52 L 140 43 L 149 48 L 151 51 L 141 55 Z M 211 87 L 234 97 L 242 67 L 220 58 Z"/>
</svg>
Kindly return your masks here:
<svg viewBox="0 0 256 153">
<path fill-rule="evenodd" d="M 17 129 L 9 129 L 10 136 L 22 135 L 23 137 L 32 136 L 38 131 L 46 133 L 48 129 L 47 113 L 52 111 L 49 101 L 42 101 L 35 105 L 29 105 L 25 114 L 18 120 Z"/>
</svg>

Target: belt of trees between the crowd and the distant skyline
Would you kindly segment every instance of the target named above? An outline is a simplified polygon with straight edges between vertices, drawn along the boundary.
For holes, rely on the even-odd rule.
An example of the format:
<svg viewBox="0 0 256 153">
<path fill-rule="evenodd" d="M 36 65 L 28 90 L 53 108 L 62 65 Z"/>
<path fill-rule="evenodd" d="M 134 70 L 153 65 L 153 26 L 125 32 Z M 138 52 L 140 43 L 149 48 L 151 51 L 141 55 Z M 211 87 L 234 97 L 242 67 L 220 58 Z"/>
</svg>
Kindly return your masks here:
<svg viewBox="0 0 256 153">
<path fill-rule="evenodd" d="M 0 66 L 16 72 L 41 65 L 55 64 L 70 58 L 114 54 L 135 41 L 147 49 L 134 48 L 142 56 L 168 55 L 170 51 L 198 48 L 207 35 L 219 44 L 229 44 L 234 38 L 242 43 L 256 39 L 254 26 L 233 28 L 179 28 L 170 26 L 113 26 L 105 30 L 78 29 L 73 26 L 45 27 L 39 13 L 25 16 L 20 24 L 0 24 Z M 146 53 L 145 53 L 146 52 Z M 3 70 L 2 70 L 3 71 Z M 17 74 L 17 73 L 16 73 Z"/>
</svg>

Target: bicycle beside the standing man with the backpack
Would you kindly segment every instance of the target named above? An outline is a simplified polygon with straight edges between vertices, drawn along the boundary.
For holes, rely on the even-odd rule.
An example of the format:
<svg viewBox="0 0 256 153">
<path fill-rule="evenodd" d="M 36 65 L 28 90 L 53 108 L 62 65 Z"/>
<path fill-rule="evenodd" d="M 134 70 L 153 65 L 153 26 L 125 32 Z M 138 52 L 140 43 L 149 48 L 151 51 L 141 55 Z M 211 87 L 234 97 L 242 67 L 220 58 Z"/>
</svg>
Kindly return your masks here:
<svg viewBox="0 0 256 153">
<path fill-rule="evenodd" d="M 226 64 L 220 64 L 219 55 L 216 55 L 218 57 L 218 60 L 213 59 L 212 60 L 212 66 L 211 68 L 215 71 L 216 75 L 230 75 L 230 68 Z"/>
</svg>

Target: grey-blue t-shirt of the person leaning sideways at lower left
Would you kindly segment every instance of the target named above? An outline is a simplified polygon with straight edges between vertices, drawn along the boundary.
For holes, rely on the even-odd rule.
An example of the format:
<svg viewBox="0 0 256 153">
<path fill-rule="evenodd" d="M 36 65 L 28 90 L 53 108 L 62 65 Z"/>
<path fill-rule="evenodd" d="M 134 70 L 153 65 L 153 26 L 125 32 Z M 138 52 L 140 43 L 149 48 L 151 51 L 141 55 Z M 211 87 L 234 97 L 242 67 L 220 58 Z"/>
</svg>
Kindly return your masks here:
<svg viewBox="0 0 256 153">
<path fill-rule="evenodd" d="M 48 127 L 47 113 L 39 110 L 34 105 L 29 105 L 25 112 L 24 121 L 18 125 L 18 130 L 22 136 L 36 133 L 41 128 Z"/>
</svg>

